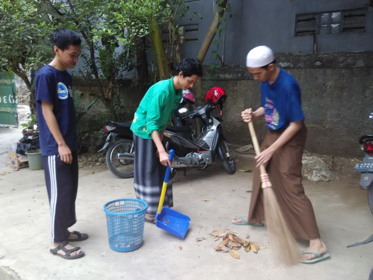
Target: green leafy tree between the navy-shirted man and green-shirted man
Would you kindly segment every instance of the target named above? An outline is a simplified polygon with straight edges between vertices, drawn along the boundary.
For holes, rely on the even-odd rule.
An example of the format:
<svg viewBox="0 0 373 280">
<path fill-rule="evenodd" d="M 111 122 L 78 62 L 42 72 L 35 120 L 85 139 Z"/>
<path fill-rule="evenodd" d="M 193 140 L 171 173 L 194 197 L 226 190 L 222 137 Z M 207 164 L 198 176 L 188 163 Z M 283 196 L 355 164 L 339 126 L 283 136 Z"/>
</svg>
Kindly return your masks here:
<svg viewBox="0 0 373 280">
<path fill-rule="evenodd" d="M 170 76 L 160 26 L 169 23 L 173 6 L 182 0 L 66 0 L 67 5 L 55 5 L 64 16 L 59 25 L 81 32 L 85 45 L 82 53 L 84 69 L 81 74 L 94 79 L 97 90 L 91 94 L 101 100 L 117 120 L 114 106 L 115 79 L 136 65 L 138 43 L 150 36 L 157 66 L 158 79 Z M 137 47 L 137 48 L 136 48 Z M 142 52 L 142 61 L 146 55 Z M 145 57 L 144 57 L 145 56 Z M 144 75 L 142 76 L 142 78 Z M 105 87 L 102 80 L 106 80 Z M 146 81 L 140 81 L 143 84 Z"/>
</svg>

